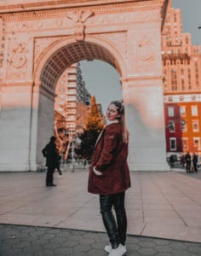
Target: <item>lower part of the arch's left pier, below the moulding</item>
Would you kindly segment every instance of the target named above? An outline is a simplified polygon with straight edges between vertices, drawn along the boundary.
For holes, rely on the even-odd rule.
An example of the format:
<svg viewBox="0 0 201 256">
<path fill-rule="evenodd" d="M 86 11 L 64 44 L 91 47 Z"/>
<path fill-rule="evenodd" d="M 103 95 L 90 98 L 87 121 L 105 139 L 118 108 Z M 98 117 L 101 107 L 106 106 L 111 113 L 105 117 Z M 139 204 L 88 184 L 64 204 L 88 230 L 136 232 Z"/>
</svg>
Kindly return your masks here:
<svg viewBox="0 0 201 256">
<path fill-rule="evenodd" d="M 0 171 L 29 171 L 32 84 L 1 84 Z"/>
</svg>

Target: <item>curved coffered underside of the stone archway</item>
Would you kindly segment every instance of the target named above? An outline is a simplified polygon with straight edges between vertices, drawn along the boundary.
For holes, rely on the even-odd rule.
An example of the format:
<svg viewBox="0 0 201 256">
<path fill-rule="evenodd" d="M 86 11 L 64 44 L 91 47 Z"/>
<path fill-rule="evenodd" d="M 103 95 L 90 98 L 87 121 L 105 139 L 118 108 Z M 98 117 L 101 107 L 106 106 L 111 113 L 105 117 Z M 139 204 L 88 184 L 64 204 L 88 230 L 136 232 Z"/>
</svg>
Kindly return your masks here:
<svg viewBox="0 0 201 256">
<path fill-rule="evenodd" d="M 73 63 L 83 60 L 106 61 L 120 73 L 118 62 L 107 49 L 95 43 L 80 42 L 68 44 L 56 50 L 55 53 L 50 56 L 41 73 L 41 86 L 55 90 L 55 84 L 66 67 L 70 67 Z"/>
</svg>

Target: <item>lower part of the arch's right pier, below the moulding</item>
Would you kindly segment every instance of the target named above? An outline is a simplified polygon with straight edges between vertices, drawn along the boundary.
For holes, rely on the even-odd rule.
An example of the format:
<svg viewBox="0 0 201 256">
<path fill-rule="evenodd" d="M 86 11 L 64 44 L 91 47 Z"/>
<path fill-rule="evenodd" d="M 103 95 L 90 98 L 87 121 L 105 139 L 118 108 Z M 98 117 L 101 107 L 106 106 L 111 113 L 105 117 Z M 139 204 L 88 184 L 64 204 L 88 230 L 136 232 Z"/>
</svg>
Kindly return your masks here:
<svg viewBox="0 0 201 256">
<path fill-rule="evenodd" d="M 129 129 L 131 171 L 169 171 L 164 134 L 164 101 L 160 77 L 122 80 Z"/>
</svg>

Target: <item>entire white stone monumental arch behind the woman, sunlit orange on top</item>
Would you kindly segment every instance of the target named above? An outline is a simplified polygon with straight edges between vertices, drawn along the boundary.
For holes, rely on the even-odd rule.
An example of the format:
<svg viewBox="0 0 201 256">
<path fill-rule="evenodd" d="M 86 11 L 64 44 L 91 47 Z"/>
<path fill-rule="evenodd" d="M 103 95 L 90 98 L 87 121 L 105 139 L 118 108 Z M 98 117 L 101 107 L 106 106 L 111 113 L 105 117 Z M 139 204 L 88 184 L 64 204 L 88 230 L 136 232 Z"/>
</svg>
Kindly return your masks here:
<svg viewBox="0 0 201 256">
<path fill-rule="evenodd" d="M 41 5 L 25 0 L 23 10 L 20 0 L 14 5 L 0 3 L 0 171 L 38 169 L 39 149 L 49 140 L 47 131 L 53 131 L 56 80 L 62 68 L 82 60 L 81 55 L 77 60 L 66 60 L 62 49 L 70 55 L 70 47 L 73 52 L 91 47 L 91 59 L 109 62 L 120 74 L 130 132 L 130 169 L 169 170 L 165 160 L 161 61 L 161 27 L 167 1 L 46 0 Z M 54 74 L 50 61 L 59 53 L 66 64 Z M 46 72 L 48 79 L 44 81 Z M 49 119 L 45 124 L 46 116 Z M 42 140 L 37 137 L 38 127 Z M 8 143 L 11 135 L 12 143 Z"/>
</svg>

